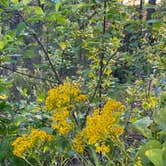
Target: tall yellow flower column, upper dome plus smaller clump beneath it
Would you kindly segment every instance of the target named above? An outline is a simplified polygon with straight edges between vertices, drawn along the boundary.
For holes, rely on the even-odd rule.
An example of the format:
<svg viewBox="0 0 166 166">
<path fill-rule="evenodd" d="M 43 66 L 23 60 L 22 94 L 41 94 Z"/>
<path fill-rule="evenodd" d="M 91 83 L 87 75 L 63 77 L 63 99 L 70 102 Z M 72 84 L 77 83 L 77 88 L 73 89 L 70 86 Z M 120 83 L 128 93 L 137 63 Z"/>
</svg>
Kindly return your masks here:
<svg viewBox="0 0 166 166">
<path fill-rule="evenodd" d="M 78 84 L 65 81 L 55 89 L 50 89 L 46 98 L 46 108 L 53 111 L 52 128 L 60 134 L 67 134 L 73 128 L 71 110 L 86 99 Z"/>
</svg>

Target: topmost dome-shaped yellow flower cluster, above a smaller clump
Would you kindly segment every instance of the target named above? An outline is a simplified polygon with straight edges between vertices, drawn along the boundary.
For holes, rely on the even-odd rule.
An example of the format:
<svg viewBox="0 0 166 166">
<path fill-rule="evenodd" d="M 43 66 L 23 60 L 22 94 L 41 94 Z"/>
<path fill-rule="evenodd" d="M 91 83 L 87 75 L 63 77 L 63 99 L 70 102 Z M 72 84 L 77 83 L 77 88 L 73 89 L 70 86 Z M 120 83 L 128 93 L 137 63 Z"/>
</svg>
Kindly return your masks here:
<svg viewBox="0 0 166 166">
<path fill-rule="evenodd" d="M 61 109 L 73 109 L 73 102 L 81 102 L 86 96 L 81 94 L 78 84 L 69 81 L 64 82 L 55 89 L 50 89 L 46 98 L 46 108 L 48 111 Z"/>
</svg>

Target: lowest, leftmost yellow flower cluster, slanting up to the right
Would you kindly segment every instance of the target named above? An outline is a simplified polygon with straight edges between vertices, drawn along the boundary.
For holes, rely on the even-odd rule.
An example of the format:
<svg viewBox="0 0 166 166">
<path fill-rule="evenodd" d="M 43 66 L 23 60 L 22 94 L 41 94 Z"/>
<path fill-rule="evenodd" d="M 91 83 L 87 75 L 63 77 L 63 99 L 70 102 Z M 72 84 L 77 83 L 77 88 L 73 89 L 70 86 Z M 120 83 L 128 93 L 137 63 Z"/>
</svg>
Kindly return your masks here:
<svg viewBox="0 0 166 166">
<path fill-rule="evenodd" d="M 30 134 L 23 134 L 13 141 L 13 154 L 18 157 L 23 157 L 24 153 L 32 149 L 38 141 L 44 143 L 45 141 L 50 141 L 52 138 L 53 136 L 47 134 L 45 131 L 32 129 Z"/>
</svg>

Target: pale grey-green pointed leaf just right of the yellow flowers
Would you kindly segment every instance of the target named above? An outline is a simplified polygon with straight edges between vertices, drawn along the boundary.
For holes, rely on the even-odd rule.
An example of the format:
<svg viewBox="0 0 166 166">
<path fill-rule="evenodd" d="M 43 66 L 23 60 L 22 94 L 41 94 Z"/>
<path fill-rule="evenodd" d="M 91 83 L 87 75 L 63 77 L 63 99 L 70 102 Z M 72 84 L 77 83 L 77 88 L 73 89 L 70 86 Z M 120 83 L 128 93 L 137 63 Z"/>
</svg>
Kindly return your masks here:
<svg viewBox="0 0 166 166">
<path fill-rule="evenodd" d="M 133 127 L 137 129 L 143 136 L 151 137 L 151 130 L 148 127 L 152 124 L 152 120 L 149 117 L 137 120 L 133 123 Z"/>
</svg>

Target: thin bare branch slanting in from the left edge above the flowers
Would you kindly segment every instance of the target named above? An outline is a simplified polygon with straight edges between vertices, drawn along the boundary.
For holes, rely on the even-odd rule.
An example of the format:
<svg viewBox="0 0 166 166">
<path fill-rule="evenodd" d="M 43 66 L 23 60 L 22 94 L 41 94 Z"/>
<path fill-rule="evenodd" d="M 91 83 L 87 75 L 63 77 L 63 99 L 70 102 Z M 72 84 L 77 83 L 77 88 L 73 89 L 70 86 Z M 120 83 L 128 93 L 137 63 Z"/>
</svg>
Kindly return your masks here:
<svg viewBox="0 0 166 166">
<path fill-rule="evenodd" d="M 9 70 L 9 71 L 11 71 L 12 73 L 17 73 L 17 74 L 20 74 L 20 75 L 23 75 L 23 76 L 26 76 L 26 77 L 29 77 L 29 78 L 34 78 L 34 79 L 38 79 L 38 80 L 42 80 L 42 81 L 49 81 L 49 82 L 51 82 L 51 83 L 55 83 L 55 81 L 52 81 L 52 80 L 49 80 L 49 79 L 46 79 L 46 78 L 37 77 L 37 76 L 34 76 L 34 75 L 22 73 L 22 72 L 17 71 L 17 70 L 16 70 L 16 71 L 13 71 L 11 68 L 6 67 L 6 66 L 3 66 L 3 65 L 0 65 L 0 68 L 5 69 L 5 70 Z"/>
</svg>

